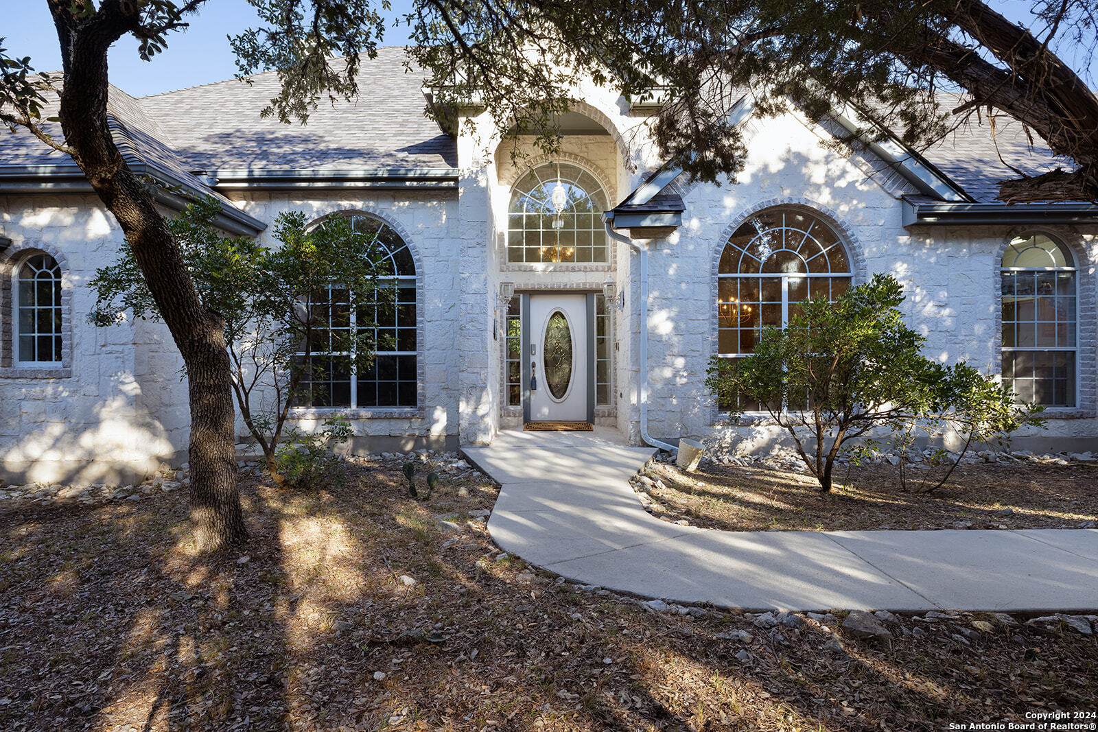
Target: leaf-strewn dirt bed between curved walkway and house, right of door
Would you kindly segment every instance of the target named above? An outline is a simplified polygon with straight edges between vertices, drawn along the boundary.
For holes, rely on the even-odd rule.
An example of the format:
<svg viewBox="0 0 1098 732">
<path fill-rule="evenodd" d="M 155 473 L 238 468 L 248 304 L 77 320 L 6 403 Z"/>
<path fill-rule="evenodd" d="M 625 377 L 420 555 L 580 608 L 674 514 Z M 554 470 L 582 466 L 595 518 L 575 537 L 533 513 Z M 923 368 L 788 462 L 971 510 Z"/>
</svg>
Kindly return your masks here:
<svg viewBox="0 0 1098 732">
<path fill-rule="evenodd" d="M 759 463 L 685 473 L 657 462 L 647 474 L 663 486 L 647 491 L 653 515 L 731 531 L 1064 529 L 1098 520 L 1096 463 L 962 463 L 930 494 L 904 489 L 888 464 L 853 466 L 849 475 L 843 465 L 831 493 L 807 472 Z"/>
</svg>

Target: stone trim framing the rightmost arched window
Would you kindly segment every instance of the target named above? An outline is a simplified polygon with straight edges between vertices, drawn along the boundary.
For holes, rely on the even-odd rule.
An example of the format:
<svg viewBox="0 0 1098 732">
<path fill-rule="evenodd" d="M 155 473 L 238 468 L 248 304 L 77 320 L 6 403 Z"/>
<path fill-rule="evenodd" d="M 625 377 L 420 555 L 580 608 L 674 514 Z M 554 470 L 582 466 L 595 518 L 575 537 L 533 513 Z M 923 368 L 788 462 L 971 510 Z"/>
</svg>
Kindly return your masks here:
<svg viewBox="0 0 1098 732">
<path fill-rule="evenodd" d="M 1098 416 L 1098 312 L 1096 312 L 1095 268 L 1098 262 L 1088 256 L 1087 243 L 1084 236 L 1068 228 L 1053 226 L 1018 226 L 1008 229 L 994 252 L 991 266 L 995 268 L 993 280 L 995 295 L 995 326 L 991 341 L 991 371 L 1002 374 L 1002 257 L 1011 240 L 1032 234 L 1044 234 L 1064 245 L 1075 258 L 1075 278 L 1078 288 L 1076 302 L 1076 363 L 1075 379 L 1078 405 L 1074 407 L 1045 407 L 1042 419 L 1091 419 Z"/>
</svg>

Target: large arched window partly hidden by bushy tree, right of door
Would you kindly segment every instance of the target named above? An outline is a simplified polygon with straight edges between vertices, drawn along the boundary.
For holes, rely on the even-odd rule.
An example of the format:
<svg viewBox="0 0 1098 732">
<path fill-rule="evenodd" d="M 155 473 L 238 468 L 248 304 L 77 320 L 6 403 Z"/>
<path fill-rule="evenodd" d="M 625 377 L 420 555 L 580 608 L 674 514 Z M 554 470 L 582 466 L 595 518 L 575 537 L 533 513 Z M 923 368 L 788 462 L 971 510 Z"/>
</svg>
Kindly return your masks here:
<svg viewBox="0 0 1098 732">
<path fill-rule="evenodd" d="M 717 269 L 717 351 L 726 358 L 754 352 L 766 326 L 785 327 L 813 297 L 833 301 L 850 286 L 839 237 L 800 209 L 771 209 L 740 225 Z M 751 405 L 748 408 L 761 408 Z"/>
</svg>

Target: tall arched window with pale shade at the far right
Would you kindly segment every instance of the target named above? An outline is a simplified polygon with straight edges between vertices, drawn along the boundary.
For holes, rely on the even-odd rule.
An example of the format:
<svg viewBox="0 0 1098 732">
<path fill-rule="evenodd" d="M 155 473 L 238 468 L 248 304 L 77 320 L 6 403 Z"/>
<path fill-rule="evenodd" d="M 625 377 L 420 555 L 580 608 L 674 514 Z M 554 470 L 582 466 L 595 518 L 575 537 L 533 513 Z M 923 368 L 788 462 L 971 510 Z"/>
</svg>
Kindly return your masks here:
<svg viewBox="0 0 1098 732">
<path fill-rule="evenodd" d="M 1021 402 L 1075 406 L 1075 260 L 1044 234 L 1016 237 L 1002 255 L 1002 382 Z"/>
</svg>

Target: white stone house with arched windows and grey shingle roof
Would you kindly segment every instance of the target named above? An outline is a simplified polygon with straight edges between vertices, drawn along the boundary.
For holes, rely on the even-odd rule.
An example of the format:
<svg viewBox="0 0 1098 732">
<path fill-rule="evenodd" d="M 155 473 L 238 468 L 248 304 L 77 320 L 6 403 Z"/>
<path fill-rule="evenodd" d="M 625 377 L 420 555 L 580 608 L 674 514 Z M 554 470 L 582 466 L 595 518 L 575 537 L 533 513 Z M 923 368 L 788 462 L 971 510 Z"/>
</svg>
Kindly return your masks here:
<svg viewBox="0 0 1098 732">
<path fill-rule="evenodd" d="M 226 232 L 265 241 L 288 210 L 383 233 L 401 275 L 396 322 L 382 324 L 395 350 L 315 383 L 301 424 L 344 414 L 369 452 L 485 443 L 527 419 L 751 449 L 773 429 L 728 421 L 703 384 L 709 358 L 750 352 L 806 295 L 890 272 L 932 357 L 1047 405 L 1047 429 L 1016 444 L 1098 448 L 1098 206 L 996 203 L 1005 162 L 1047 166 L 1020 129 L 966 127 L 922 155 L 842 153 L 824 143 L 851 121 L 758 120 L 744 101 L 738 182 L 690 185 L 646 136 L 652 110 L 613 90 L 576 88 L 562 149 L 545 155 L 477 111 L 475 133 L 440 129 L 402 63 L 381 49 L 359 101 L 322 105 L 307 126 L 259 116 L 270 74 L 112 90 L 119 145 L 166 212 L 212 194 Z M 528 155 L 513 161 L 513 145 Z M 76 166 L 30 135 L 0 135 L 0 478 L 128 480 L 186 460 L 167 330 L 87 322 L 87 282 L 122 234 Z"/>
</svg>

